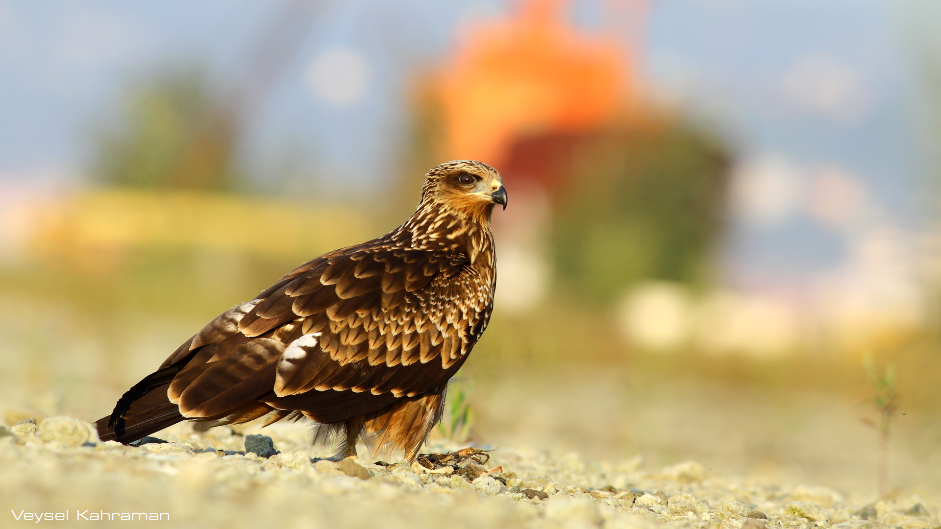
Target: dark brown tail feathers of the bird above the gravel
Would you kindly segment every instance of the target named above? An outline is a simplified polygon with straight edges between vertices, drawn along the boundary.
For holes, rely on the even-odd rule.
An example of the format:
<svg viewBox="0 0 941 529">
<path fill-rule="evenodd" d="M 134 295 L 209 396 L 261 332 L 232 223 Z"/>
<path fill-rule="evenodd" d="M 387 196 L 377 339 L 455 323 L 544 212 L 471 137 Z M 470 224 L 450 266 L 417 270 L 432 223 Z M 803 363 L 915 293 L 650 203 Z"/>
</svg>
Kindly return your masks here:
<svg viewBox="0 0 941 529">
<path fill-rule="evenodd" d="M 167 398 L 167 388 L 186 363 L 152 373 L 124 393 L 111 415 L 95 423 L 99 439 L 127 444 L 183 421 L 180 407 Z"/>
</svg>

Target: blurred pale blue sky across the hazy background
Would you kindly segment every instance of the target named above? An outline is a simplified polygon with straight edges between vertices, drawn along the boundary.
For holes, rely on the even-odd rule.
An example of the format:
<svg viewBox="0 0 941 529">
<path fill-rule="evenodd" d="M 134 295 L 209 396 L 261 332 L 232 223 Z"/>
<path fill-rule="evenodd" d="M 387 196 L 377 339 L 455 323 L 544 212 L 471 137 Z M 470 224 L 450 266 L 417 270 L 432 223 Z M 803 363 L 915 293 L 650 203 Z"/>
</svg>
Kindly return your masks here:
<svg viewBox="0 0 941 529">
<path fill-rule="evenodd" d="M 597 30 L 610 22 L 604 4 L 573 2 L 572 20 Z M 865 248 L 886 237 L 897 259 L 910 250 L 906 241 L 933 206 L 928 111 L 912 66 L 917 43 L 903 23 L 911 5 L 650 5 L 637 46 L 648 97 L 720 131 L 738 159 L 728 245 L 733 281 L 845 268 L 871 257 Z M 0 0 L 0 182 L 80 182 L 91 133 L 114 115 L 129 80 L 181 62 L 226 79 L 282 6 Z M 384 167 L 406 141 L 414 72 L 446 56 L 468 21 L 508 6 L 323 3 L 249 127 L 243 152 L 256 185 L 283 191 L 386 181 Z"/>
</svg>

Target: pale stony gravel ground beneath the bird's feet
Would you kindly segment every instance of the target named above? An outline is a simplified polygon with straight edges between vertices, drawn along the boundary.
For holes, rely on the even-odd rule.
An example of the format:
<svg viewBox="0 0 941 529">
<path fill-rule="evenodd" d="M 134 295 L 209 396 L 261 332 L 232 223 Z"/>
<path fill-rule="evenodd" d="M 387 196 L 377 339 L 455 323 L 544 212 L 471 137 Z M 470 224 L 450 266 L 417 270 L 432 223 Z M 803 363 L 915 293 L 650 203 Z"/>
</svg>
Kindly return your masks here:
<svg viewBox="0 0 941 529">
<path fill-rule="evenodd" d="M 246 453 L 246 441 L 263 447 L 266 440 L 247 437 L 258 433 L 279 453 Z M 68 512 L 66 523 L 82 513 L 78 521 L 89 526 L 120 520 L 107 513 L 135 521 L 140 515 L 131 513 L 166 513 L 162 523 L 174 527 L 229 528 L 939 527 L 934 506 L 917 495 L 873 502 L 822 487 L 712 475 L 694 462 L 649 470 L 639 457 L 590 462 L 501 447 L 486 462 L 496 470 L 471 482 L 419 475 L 405 464 L 329 460 L 308 445 L 304 425 L 206 433 L 176 425 L 156 435 L 169 442 L 103 443 L 91 425 L 67 417 L 0 429 L 0 526 L 35 521 L 30 513 Z M 458 448 L 433 443 L 425 451 Z M 94 521 L 92 513 L 102 512 L 104 521 Z"/>
</svg>

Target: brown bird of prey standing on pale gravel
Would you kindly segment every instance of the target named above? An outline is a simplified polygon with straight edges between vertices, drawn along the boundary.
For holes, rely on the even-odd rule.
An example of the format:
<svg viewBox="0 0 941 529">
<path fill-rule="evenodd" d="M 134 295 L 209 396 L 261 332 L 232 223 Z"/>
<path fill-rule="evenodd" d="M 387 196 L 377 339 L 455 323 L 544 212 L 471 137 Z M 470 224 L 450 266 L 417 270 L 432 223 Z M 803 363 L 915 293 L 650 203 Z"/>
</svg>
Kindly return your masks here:
<svg viewBox="0 0 941 529">
<path fill-rule="evenodd" d="M 220 314 L 120 397 L 99 437 L 307 417 L 341 436 L 343 457 L 357 457 L 362 439 L 415 466 L 448 380 L 490 319 L 496 204 L 506 208 L 496 169 L 431 169 L 404 224 L 301 264 Z"/>
</svg>

